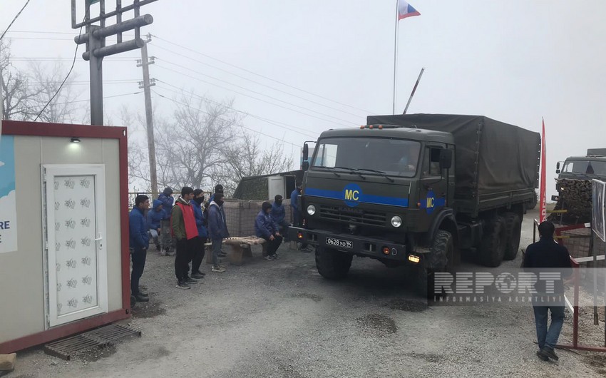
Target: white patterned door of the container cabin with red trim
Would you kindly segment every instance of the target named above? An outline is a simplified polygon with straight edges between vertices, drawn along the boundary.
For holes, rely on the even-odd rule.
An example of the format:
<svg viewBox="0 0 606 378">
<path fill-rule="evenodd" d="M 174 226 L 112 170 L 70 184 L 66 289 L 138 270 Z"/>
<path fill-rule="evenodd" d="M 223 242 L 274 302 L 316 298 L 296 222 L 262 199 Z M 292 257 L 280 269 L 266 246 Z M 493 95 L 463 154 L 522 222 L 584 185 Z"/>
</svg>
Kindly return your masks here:
<svg viewBox="0 0 606 378">
<path fill-rule="evenodd" d="M 47 327 L 108 311 L 105 165 L 43 165 Z"/>
</svg>

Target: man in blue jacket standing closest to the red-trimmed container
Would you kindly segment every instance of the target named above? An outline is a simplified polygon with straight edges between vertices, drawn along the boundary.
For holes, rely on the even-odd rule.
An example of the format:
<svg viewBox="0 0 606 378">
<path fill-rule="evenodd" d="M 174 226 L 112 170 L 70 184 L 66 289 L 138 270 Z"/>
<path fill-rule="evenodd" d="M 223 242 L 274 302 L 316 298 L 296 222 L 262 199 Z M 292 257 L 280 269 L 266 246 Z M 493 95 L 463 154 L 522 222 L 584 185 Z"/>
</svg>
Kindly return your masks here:
<svg viewBox="0 0 606 378">
<path fill-rule="evenodd" d="M 145 258 L 148 255 L 150 237 L 148 223 L 145 220 L 145 210 L 150 207 L 150 198 L 147 195 L 138 195 L 135 198 L 135 207 L 128 215 L 128 229 L 130 231 L 130 258 L 133 259 L 133 272 L 130 273 L 130 295 L 137 302 L 148 302 L 149 297 L 139 289 L 139 279 L 145 269 Z"/>
</svg>

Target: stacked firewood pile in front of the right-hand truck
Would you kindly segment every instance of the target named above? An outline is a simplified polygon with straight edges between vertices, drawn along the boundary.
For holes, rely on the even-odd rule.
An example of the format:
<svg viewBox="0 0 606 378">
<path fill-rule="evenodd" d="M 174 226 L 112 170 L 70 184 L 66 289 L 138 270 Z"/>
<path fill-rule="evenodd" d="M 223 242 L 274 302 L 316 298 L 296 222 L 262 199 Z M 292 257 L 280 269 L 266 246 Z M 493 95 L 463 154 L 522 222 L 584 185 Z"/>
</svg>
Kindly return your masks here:
<svg viewBox="0 0 606 378">
<path fill-rule="evenodd" d="M 590 180 L 558 180 L 560 198 L 554 210 L 567 210 L 566 213 L 553 213 L 552 222 L 577 225 L 591 222 L 592 184 Z"/>
</svg>

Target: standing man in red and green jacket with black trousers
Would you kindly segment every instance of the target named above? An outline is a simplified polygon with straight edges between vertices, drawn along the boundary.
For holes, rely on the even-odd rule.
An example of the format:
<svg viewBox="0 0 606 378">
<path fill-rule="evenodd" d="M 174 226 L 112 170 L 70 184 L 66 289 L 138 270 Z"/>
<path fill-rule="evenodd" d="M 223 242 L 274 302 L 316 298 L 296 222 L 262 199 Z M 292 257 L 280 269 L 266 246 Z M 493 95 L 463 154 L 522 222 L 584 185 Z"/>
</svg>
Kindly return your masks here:
<svg viewBox="0 0 606 378">
<path fill-rule="evenodd" d="M 170 225 L 177 239 L 177 255 L 175 256 L 175 275 L 178 289 L 190 289 L 190 284 L 198 282 L 188 276 L 190 261 L 198 245 L 197 226 L 191 200 L 194 190 L 188 186 L 181 189 L 181 196 L 173 206 L 170 214 Z"/>
</svg>

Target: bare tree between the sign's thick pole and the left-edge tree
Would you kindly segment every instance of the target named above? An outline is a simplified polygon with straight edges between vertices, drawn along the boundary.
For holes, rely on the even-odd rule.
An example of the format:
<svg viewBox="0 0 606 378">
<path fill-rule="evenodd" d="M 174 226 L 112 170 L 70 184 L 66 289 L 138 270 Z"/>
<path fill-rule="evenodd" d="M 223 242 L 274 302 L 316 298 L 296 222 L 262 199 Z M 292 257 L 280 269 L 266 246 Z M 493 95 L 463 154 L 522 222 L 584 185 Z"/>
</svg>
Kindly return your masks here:
<svg viewBox="0 0 606 378">
<path fill-rule="evenodd" d="M 69 76 L 61 86 L 63 79 L 66 77 L 66 72 L 63 71 L 60 64 L 56 63 L 49 70 L 41 63 L 33 62 L 30 68 L 31 77 L 36 83 L 33 96 L 33 101 L 37 107 L 36 115 L 42 111 L 38 119 L 50 123 L 74 123 L 81 119 L 76 116 L 78 106 L 73 103 L 80 95 L 80 93 L 73 91 L 75 74 Z M 46 106 L 47 103 L 48 106 Z"/>
</svg>

